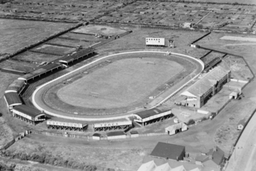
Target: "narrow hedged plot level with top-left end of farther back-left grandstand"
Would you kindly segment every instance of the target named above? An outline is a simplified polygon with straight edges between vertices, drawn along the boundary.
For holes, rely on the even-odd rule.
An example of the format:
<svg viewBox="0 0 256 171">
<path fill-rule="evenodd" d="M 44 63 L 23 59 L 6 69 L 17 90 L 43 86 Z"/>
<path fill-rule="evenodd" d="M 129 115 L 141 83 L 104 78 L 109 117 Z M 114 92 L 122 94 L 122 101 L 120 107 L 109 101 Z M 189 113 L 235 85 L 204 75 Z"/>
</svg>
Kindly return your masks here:
<svg viewBox="0 0 256 171">
<path fill-rule="evenodd" d="M 33 50 L 38 51 L 38 52 L 52 52 L 52 53 L 56 53 L 59 55 L 65 55 L 69 52 L 75 51 L 75 48 L 44 44 L 44 45 L 40 45 L 40 46 L 33 48 Z"/>
</svg>

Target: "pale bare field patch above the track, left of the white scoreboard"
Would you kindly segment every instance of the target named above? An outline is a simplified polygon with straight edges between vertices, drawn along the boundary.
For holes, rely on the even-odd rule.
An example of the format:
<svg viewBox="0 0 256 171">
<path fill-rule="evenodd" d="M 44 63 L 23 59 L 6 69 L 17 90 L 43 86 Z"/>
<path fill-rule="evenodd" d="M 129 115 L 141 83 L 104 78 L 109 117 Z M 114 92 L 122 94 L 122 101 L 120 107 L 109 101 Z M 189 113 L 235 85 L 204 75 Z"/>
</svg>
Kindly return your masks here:
<svg viewBox="0 0 256 171">
<path fill-rule="evenodd" d="M 103 35 L 118 35 L 124 33 L 126 30 L 113 28 L 109 26 L 84 26 L 74 30 L 74 32 L 90 33 L 90 34 L 103 34 Z"/>
</svg>

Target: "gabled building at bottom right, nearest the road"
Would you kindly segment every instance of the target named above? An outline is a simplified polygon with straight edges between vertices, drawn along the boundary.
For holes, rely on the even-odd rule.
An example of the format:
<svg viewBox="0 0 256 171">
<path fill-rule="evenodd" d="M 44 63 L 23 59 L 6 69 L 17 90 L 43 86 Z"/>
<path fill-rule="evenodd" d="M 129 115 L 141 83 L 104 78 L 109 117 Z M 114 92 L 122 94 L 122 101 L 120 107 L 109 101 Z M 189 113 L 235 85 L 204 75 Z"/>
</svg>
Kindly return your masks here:
<svg viewBox="0 0 256 171">
<path fill-rule="evenodd" d="M 196 164 L 202 166 L 208 166 L 218 170 L 223 166 L 224 163 L 224 151 L 218 146 L 210 149 L 206 154 L 199 154 L 196 157 Z"/>
</svg>

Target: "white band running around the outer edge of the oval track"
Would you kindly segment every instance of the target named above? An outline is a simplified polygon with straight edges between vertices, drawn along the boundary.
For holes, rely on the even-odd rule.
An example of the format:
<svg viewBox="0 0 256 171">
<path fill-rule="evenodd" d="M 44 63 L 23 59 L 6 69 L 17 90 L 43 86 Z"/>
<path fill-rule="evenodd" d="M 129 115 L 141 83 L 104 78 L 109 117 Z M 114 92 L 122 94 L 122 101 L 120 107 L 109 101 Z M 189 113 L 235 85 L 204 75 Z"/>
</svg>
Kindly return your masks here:
<svg viewBox="0 0 256 171">
<path fill-rule="evenodd" d="M 79 71 L 79 70 L 81 70 L 82 68 L 85 68 L 85 67 L 87 67 L 87 66 L 89 66 L 89 65 L 92 65 L 92 64 L 94 64 L 94 63 L 96 63 L 96 62 L 99 62 L 99 61 L 101 61 L 101 60 L 103 60 L 103 59 L 105 59 L 105 58 L 109 58 L 109 57 L 112 57 L 112 56 L 114 56 L 114 55 L 124 55 L 124 54 L 141 53 L 141 52 L 157 52 L 157 53 L 163 53 L 163 54 L 168 53 L 168 52 L 160 52 L 160 51 L 135 51 L 135 52 L 121 52 L 121 53 L 117 53 L 117 54 L 113 54 L 113 55 L 106 55 L 106 56 L 104 56 L 104 57 L 102 57 L 102 58 L 96 59 L 96 60 L 93 61 L 93 62 L 90 62 L 90 63 L 87 64 L 87 65 L 84 65 L 84 66 L 82 66 L 82 67 L 80 67 L 80 68 L 77 68 L 77 69 L 75 69 L 74 71 L 71 71 L 71 72 L 69 72 L 69 73 L 67 73 L 67 74 L 64 74 L 64 75 L 62 75 L 62 76 L 60 76 L 60 77 L 54 79 L 54 80 L 51 80 L 50 82 L 47 82 L 47 83 L 44 83 L 44 84 L 41 85 L 41 86 L 38 86 L 38 88 L 35 89 L 35 92 L 33 92 L 33 94 L 32 94 L 32 104 L 34 104 L 34 106 L 35 106 L 38 110 L 43 110 L 44 113 L 47 113 L 48 115 L 53 115 L 53 116 L 56 116 L 56 117 L 59 117 L 59 118 L 67 118 L 67 119 L 78 120 L 78 121 L 109 121 L 109 120 L 120 119 L 120 118 L 128 118 L 128 117 L 130 117 L 130 116 L 133 117 L 133 114 L 130 114 L 130 115 L 122 115 L 122 116 L 114 116 L 114 117 L 107 117 L 107 118 L 106 118 L 106 117 L 102 117 L 102 118 L 81 118 L 81 117 L 79 117 L 79 116 L 74 116 L 74 117 L 72 117 L 72 116 L 66 116 L 66 115 L 59 115 L 59 114 L 56 114 L 56 113 L 51 113 L 50 111 L 47 111 L 47 110 L 44 110 L 43 108 L 41 108 L 41 107 L 35 102 L 35 95 L 36 95 L 37 92 L 38 92 L 40 89 L 42 89 L 44 86 L 47 86 L 47 85 L 49 85 L 50 83 L 53 83 L 53 82 L 56 81 L 56 80 L 62 79 L 63 77 L 68 76 L 69 74 L 72 74 L 72 73 L 74 73 L 74 72 L 76 72 L 76 71 Z M 180 53 L 174 53 L 174 52 L 172 52 L 171 55 L 172 55 L 172 54 L 173 54 L 173 55 L 181 55 L 181 56 L 184 56 L 184 57 L 187 57 L 187 58 L 192 58 L 192 59 L 194 59 L 195 61 L 199 62 L 200 65 L 202 65 L 202 68 L 204 68 L 204 64 L 203 64 L 203 62 L 202 62 L 200 59 L 194 58 L 194 57 L 192 57 L 192 56 L 190 56 L 190 55 L 183 55 L 183 54 L 180 54 Z M 202 69 L 202 71 L 203 71 L 203 69 Z M 201 72 L 202 72 L 202 71 L 201 71 Z M 200 72 L 200 74 L 201 74 L 201 72 Z M 195 79 L 196 77 L 198 77 L 200 74 L 197 74 L 197 76 L 195 76 L 193 79 L 191 79 L 191 80 L 189 80 L 187 83 L 185 83 L 184 86 L 187 85 L 188 83 L 190 83 L 190 81 L 194 80 L 194 79 Z M 181 88 L 183 88 L 184 86 L 181 86 Z M 181 89 L 181 88 L 180 88 L 180 89 Z M 175 91 L 175 92 L 178 92 L 180 89 L 178 89 L 178 90 Z M 172 95 L 174 95 L 175 92 L 172 93 Z M 165 101 L 167 101 L 172 95 L 169 95 L 167 98 L 163 99 L 163 101 L 160 101 L 160 103 L 158 103 L 158 104 L 155 105 L 154 107 L 158 107 L 160 104 L 163 104 L 163 103 L 164 103 Z M 154 107 L 152 107 L 152 108 L 154 108 Z"/>
</svg>

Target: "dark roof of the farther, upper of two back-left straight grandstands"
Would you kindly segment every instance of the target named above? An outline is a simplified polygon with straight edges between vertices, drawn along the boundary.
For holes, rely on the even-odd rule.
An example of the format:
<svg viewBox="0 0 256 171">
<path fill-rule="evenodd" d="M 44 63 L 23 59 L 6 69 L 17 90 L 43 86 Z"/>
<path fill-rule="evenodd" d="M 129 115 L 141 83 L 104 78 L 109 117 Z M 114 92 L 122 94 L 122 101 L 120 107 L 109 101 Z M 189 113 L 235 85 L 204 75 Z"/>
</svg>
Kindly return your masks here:
<svg viewBox="0 0 256 171">
<path fill-rule="evenodd" d="M 63 56 L 62 58 L 59 58 L 59 61 L 64 61 L 64 62 L 72 62 L 77 58 L 81 58 L 84 55 L 88 55 L 89 53 L 93 52 L 95 49 L 93 49 L 92 47 L 89 47 L 87 49 L 81 49 L 78 52 L 73 52 L 72 54 L 68 54 Z"/>
</svg>

